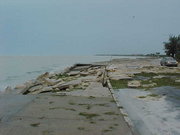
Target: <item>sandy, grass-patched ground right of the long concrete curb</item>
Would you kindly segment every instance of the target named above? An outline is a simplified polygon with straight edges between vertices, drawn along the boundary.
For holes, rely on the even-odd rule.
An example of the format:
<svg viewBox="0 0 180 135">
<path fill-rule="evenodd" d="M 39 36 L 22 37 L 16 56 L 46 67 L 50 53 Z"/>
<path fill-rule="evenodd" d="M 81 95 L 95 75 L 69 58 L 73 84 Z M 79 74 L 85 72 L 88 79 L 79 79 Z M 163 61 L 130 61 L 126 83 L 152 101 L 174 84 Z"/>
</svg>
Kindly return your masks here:
<svg viewBox="0 0 180 135">
<path fill-rule="evenodd" d="M 113 60 L 109 78 L 121 111 L 140 135 L 180 134 L 180 67 L 159 59 Z"/>
</svg>

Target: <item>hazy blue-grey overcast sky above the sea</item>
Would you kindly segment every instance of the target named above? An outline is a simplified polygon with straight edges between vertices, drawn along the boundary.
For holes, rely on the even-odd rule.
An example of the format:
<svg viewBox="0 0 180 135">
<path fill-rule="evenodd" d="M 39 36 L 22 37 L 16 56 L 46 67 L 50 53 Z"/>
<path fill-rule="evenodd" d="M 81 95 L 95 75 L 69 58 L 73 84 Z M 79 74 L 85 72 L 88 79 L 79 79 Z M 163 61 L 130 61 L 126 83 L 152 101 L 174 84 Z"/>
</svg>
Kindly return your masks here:
<svg viewBox="0 0 180 135">
<path fill-rule="evenodd" d="M 163 52 L 180 0 L 0 0 L 0 55 Z"/>
</svg>

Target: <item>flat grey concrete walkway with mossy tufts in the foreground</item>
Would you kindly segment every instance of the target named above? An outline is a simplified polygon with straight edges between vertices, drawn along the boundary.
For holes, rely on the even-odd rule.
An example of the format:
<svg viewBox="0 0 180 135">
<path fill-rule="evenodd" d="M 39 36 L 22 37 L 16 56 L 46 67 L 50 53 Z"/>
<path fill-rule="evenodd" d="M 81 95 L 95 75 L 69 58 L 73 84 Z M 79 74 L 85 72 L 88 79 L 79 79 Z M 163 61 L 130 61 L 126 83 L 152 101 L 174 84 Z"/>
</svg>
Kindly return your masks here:
<svg viewBox="0 0 180 135">
<path fill-rule="evenodd" d="M 16 96 L 1 96 L 0 135 L 132 135 L 110 97 Z"/>
</svg>

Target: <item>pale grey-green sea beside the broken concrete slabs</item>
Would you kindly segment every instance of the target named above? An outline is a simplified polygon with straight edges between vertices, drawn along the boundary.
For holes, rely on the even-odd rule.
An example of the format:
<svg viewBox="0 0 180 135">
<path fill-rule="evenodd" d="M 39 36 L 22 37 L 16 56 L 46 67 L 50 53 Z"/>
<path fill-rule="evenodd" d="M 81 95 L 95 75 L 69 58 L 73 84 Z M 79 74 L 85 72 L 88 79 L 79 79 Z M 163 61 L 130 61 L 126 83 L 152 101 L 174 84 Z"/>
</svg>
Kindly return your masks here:
<svg viewBox="0 0 180 135">
<path fill-rule="evenodd" d="M 13 87 L 34 79 L 44 72 L 62 71 L 75 63 L 92 63 L 110 59 L 110 56 L 0 56 L 0 91 L 7 86 Z"/>
</svg>

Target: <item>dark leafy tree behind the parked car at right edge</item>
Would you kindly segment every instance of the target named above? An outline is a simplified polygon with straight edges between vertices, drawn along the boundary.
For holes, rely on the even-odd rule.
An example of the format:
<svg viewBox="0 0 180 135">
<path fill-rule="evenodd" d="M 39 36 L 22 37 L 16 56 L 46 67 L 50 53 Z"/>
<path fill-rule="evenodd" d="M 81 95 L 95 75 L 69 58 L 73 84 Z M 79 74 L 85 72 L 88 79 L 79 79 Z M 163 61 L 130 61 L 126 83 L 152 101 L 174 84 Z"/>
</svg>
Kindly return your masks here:
<svg viewBox="0 0 180 135">
<path fill-rule="evenodd" d="M 180 60 L 180 35 L 169 36 L 168 42 L 164 42 L 164 49 L 167 56 Z"/>
</svg>

